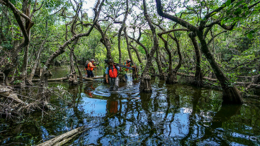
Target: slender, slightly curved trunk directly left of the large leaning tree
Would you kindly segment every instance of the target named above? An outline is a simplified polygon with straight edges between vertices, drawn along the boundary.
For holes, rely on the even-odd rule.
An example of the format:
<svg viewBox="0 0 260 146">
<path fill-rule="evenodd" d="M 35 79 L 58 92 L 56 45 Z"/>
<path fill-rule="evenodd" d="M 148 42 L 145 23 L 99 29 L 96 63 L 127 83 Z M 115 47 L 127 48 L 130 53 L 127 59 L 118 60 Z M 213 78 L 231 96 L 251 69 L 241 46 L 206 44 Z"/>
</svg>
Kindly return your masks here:
<svg viewBox="0 0 260 146">
<path fill-rule="evenodd" d="M 194 50 L 195 50 L 195 54 L 196 54 L 196 72 L 195 72 L 195 77 L 194 77 L 194 81 L 192 81 L 192 84 L 200 87 L 203 85 L 203 76 L 202 76 L 202 72 L 201 72 L 201 68 L 200 68 L 200 50 L 199 50 L 199 46 L 198 46 L 198 42 L 195 38 L 195 33 L 191 32 L 189 33 L 189 37 L 192 41 L 192 44 L 194 46 Z"/>
</svg>

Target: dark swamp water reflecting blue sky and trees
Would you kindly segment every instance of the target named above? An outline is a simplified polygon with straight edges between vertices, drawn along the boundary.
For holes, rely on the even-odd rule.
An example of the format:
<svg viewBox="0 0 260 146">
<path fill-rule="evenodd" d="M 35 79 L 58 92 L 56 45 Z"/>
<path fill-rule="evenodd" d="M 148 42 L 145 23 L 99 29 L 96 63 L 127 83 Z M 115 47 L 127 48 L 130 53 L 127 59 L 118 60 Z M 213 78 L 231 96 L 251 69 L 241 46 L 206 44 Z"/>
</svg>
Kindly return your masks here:
<svg viewBox="0 0 260 146">
<path fill-rule="evenodd" d="M 55 70 L 52 78 L 68 71 Z M 259 98 L 222 105 L 220 91 L 151 83 L 153 92 L 145 94 L 129 75 L 119 93 L 101 79 L 73 87 L 50 82 L 53 91 L 66 90 L 51 96 L 62 110 L 34 112 L 19 124 L 1 119 L 0 145 L 37 145 L 80 126 L 88 130 L 68 145 L 260 145 Z"/>
</svg>

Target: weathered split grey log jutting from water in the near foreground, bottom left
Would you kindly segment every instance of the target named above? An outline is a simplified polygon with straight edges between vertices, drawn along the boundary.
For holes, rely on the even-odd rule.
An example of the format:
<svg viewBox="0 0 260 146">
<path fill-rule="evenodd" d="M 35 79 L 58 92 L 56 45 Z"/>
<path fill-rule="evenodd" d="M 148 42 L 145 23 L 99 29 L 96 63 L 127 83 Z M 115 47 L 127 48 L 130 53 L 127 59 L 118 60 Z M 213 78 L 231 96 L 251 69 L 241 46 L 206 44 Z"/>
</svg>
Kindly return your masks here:
<svg viewBox="0 0 260 146">
<path fill-rule="evenodd" d="M 37 146 L 59 146 L 59 145 L 65 145 L 66 143 L 70 142 L 71 140 L 75 139 L 77 136 L 79 136 L 81 133 L 85 132 L 89 128 L 85 128 L 85 126 L 81 126 L 79 128 L 73 129 L 69 132 L 66 132 L 64 134 L 61 134 L 60 136 L 57 136 L 49 141 L 45 141 L 44 143 L 41 143 Z"/>
</svg>

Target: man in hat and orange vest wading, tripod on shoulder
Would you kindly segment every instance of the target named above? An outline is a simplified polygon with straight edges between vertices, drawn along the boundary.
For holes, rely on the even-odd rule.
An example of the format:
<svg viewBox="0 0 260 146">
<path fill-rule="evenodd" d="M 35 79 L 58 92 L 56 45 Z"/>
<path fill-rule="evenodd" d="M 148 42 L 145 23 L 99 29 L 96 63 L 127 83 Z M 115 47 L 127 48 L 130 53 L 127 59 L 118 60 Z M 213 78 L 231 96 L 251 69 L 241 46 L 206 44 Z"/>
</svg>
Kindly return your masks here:
<svg viewBox="0 0 260 146">
<path fill-rule="evenodd" d="M 114 60 L 112 59 L 109 59 L 107 64 L 108 64 L 108 67 L 106 68 L 106 71 L 105 71 L 105 74 L 106 74 L 106 80 L 107 80 L 107 83 L 110 84 L 110 89 L 109 91 L 118 91 L 118 71 L 120 69 L 120 67 L 114 65 Z M 108 78 L 109 76 L 109 78 Z M 109 82 L 108 82 L 109 81 Z M 115 89 L 113 90 L 115 86 Z"/>
</svg>

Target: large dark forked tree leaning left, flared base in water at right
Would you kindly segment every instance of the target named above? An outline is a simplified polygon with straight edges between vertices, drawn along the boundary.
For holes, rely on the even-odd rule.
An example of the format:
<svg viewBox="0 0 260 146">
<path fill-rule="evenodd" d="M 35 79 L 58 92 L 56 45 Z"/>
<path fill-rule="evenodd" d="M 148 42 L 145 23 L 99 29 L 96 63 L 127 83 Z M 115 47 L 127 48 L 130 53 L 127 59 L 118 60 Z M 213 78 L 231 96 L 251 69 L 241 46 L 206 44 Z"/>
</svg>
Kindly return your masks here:
<svg viewBox="0 0 260 146">
<path fill-rule="evenodd" d="M 235 85 L 231 85 L 229 78 L 226 77 L 226 75 L 223 73 L 223 71 L 220 69 L 220 67 L 218 66 L 217 62 L 215 61 L 215 59 L 213 58 L 211 52 L 209 51 L 208 45 L 205 41 L 205 36 L 207 35 L 208 31 L 205 31 L 204 35 L 203 35 L 203 30 L 205 29 L 206 23 L 209 20 L 209 17 L 213 16 L 212 14 L 214 14 L 215 12 L 220 12 L 220 10 L 222 10 L 224 7 L 219 7 L 216 10 L 213 10 L 211 12 L 209 12 L 207 15 L 204 16 L 205 20 L 200 21 L 200 25 L 199 28 L 197 28 L 196 26 L 188 23 L 187 21 L 178 18 L 176 16 L 167 14 L 163 12 L 163 6 L 161 5 L 161 0 L 155 0 L 156 1 L 156 7 L 157 7 L 157 13 L 164 17 L 164 18 L 168 18 L 174 22 L 177 22 L 178 24 L 181 24 L 183 27 L 186 27 L 187 29 L 190 29 L 191 31 L 193 31 L 194 33 L 196 33 L 196 35 L 198 36 L 200 43 L 201 43 L 201 47 L 200 50 L 201 52 L 203 52 L 203 54 L 205 55 L 205 57 L 207 58 L 209 64 L 211 65 L 217 79 L 219 80 L 222 90 L 223 90 L 223 102 L 224 103 L 238 103 L 238 104 L 242 104 L 243 103 L 243 98 L 241 96 L 241 93 L 239 92 L 239 90 L 237 89 L 237 87 Z M 226 6 L 226 5 L 225 5 Z M 251 7 L 250 7 L 251 8 Z M 217 24 L 217 23 L 213 23 L 212 25 Z M 232 24 L 230 27 L 224 27 L 223 25 L 221 25 L 222 28 L 224 29 L 233 29 L 235 25 Z"/>
</svg>

